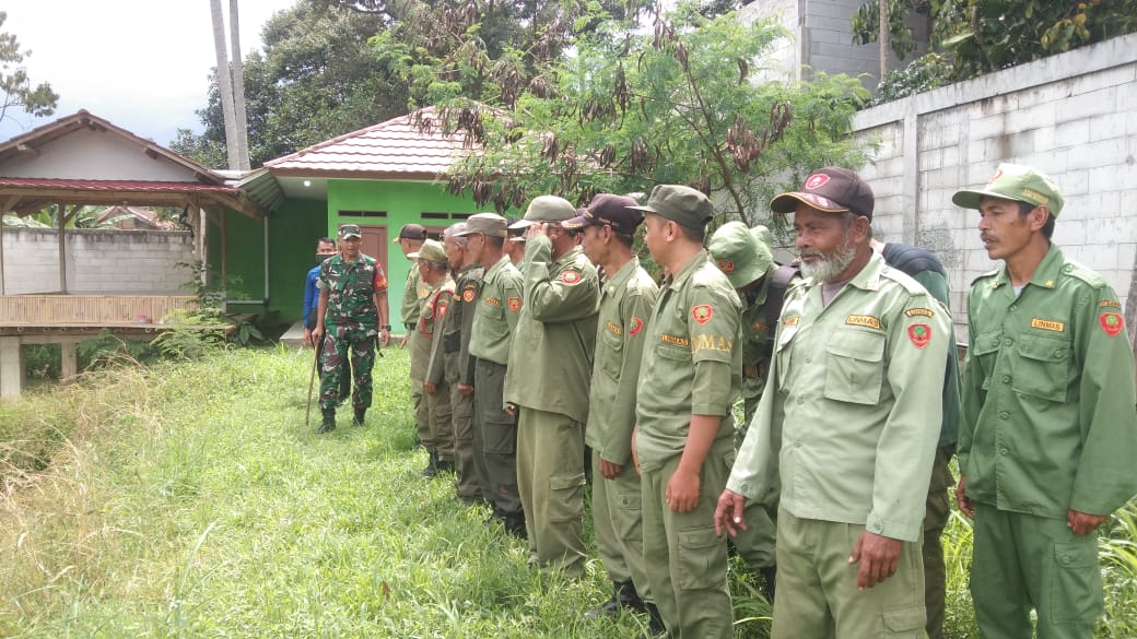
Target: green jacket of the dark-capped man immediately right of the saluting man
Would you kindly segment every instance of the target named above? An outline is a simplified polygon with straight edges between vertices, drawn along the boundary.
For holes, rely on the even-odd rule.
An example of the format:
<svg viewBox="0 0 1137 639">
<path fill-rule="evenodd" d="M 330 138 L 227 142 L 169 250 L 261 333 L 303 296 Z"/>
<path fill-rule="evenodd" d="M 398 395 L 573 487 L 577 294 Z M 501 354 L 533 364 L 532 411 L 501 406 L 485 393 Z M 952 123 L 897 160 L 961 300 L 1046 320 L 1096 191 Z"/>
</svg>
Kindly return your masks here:
<svg viewBox="0 0 1137 639">
<path fill-rule="evenodd" d="M 636 428 L 636 385 L 644 358 L 644 335 L 659 294 L 652 276 L 632 256 L 604 283 L 596 325 L 596 357 L 589 390 L 584 443 L 601 458 L 626 466 Z"/>
</svg>

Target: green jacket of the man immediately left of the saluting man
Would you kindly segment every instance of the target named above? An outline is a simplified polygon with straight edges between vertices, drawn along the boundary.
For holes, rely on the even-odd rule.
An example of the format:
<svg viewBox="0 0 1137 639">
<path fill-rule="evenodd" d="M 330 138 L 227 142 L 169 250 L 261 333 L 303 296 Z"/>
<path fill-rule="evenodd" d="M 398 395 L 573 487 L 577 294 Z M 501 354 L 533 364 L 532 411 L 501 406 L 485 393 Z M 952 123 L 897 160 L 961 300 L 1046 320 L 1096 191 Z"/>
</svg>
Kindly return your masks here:
<svg viewBox="0 0 1137 639">
<path fill-rule="evenodd" d="M 481 297 L 474 307 L 470 355 L 503 366 L 509 363 L 509 343 L 521 317 L 523 285 L 521 272 L 509 256 L 501 256 L 485 272 Z"/>
</svg>

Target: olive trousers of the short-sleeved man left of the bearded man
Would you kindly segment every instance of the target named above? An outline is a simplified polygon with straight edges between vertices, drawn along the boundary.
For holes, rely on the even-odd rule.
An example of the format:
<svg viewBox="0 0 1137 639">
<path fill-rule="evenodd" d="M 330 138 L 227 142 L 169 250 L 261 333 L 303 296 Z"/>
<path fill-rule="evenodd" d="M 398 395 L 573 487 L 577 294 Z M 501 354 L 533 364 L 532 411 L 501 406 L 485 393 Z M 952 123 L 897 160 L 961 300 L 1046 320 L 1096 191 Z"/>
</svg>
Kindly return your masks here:
<svg viewBox="0 0 1137 639">
<path fill-rule="evenodd" d="M 682 514 L 667 506 L 667 481 L 680 457 L 640 475 L 648 587 L 672 639 L 730 639 L 727 539 L 714 532 L 714 508 L 727 488 L 735 449 L 729 441 L 711 447 L 699 473 L 699 503 Z"/>
</svg>

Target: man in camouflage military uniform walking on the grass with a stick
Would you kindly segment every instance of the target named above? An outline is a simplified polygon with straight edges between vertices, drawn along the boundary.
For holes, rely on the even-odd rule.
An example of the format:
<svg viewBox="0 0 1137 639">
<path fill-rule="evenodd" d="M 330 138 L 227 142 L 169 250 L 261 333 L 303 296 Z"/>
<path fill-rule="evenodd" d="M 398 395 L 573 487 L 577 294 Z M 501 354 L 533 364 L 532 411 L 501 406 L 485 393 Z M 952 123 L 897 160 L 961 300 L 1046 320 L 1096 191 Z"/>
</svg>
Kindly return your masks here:
<svg viewBox="0 0 1137 639">
<path fill-rule="evenodd" d="M 323 423 L 316 432 L 335 429 L 335 406 L 339 404 L 340 365 L 351 352 L 355 389 L 351 406 L 352 424 L 362 426 L 371 407 L 371 370 L 375 365 L 375 335 L 380 343 L 391 341 L 388 324 L 387 274 L 373 257 L 359 251 L 363 234 L 359 226 L 343 224 L 339 232 L 340 252 L 319 266 L 319 304 L 314 343 L 323 343 L 323 371 L 319 380 L 319 409 Z M 377 330 L 377 331 L 376 331 Z M 323 342 L 321 342 L 323 340 Z"/>
</svg>

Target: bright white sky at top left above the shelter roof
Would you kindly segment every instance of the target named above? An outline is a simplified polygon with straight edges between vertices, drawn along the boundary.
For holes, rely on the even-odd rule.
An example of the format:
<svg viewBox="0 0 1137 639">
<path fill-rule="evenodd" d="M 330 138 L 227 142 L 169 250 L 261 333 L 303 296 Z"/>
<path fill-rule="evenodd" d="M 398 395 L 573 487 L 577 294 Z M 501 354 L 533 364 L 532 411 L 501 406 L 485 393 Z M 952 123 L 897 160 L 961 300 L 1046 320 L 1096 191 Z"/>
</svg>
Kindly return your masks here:
<svg viewBox="0 0 1137 639">
<path fill-rule="evenodd" d="M 260 49 L 260 28 L 293 0 L 239 0 L 241 50 Z M 16 36 L 33 85 L 59 94 L 44 118 L 13 110 L 0 140 L 86 109 L 168 147 L 179 128 L 202 130 L 214 52 L 209 0 L 16 0 L 0 5 L 0 32 Z M 229 36 L 229 0 L 222 0 Z M 226 42 L 226 45 L 229 43 Z M 232 52 L 230 53 L 232 57 Z"/>
</svg>

